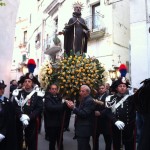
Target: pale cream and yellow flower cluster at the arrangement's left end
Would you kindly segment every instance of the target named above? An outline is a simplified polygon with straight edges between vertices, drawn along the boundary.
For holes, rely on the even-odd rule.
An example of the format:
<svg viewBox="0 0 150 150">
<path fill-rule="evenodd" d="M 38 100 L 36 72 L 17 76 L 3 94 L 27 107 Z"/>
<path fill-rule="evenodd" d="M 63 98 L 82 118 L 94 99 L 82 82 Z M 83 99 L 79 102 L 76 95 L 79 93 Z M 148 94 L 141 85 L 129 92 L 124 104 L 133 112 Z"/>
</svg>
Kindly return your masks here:
<svg viewBox="0 0 150 150">
<path fill-rule="evenodd" d="M 41 87 L 46 89 L 47 85 L 52 82 L 53 79 L 53 67 L 52 62 L 49 60 L 46 60 L 43 65 L 41 66 L 39 70 L 39 82 L 41 84 Z"/>
</svg>

